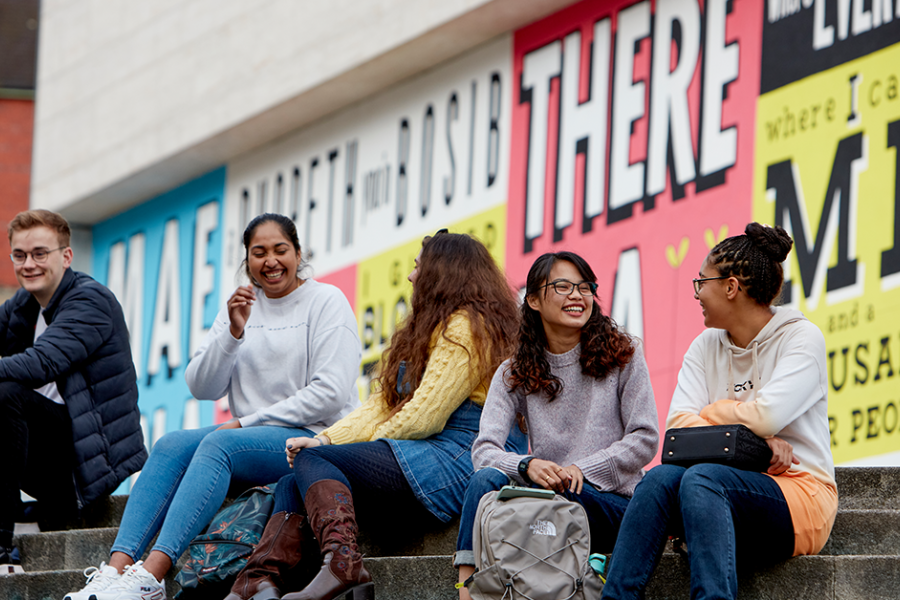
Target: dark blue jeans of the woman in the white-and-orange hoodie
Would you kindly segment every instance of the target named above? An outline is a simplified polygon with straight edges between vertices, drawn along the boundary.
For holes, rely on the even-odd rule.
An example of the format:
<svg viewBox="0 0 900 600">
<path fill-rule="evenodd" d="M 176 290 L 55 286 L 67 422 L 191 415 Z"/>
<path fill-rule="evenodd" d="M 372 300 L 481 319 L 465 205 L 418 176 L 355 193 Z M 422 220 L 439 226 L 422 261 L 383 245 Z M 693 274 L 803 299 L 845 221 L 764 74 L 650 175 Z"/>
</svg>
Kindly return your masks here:
<svg viewBox="0 0 900 600">
<path fill-rule="evenodd" d="M 737 568 L 794 554 L 794 525 L 778 484 L 722 465 L 660 465 L 634 491 L 603 598 L 643 598 L 669 535 L 683 537 L 691 599 L 737 598 Z"/>
</svg>

